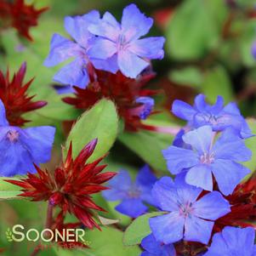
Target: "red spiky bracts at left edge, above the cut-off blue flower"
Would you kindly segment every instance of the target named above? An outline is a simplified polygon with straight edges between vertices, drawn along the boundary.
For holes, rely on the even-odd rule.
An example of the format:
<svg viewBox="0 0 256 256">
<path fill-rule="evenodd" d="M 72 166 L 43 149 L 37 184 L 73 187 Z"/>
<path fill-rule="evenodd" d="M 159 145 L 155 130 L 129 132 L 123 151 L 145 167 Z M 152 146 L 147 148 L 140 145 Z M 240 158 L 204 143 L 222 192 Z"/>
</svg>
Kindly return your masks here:
<svg viewBox="0 0 256 256">
<path fill-rule="evenodd" d="M 10 125 L 22 126 L 28 120 L 22 117 L 29 111 L 35 111 L 47 105 L 46 101 L 33 101 L 34 95 L 29 96 L 27 89 L 31 86 L 33 78 L 29 82 L 24 82 L 26 75 L 26 63 L 20 66 L 20 70 L 14 73 L 10 80 L 9 70 L 6 75 L 0 71 L 0 99 L 6 109 L 6 117 Z"/>
</svg>

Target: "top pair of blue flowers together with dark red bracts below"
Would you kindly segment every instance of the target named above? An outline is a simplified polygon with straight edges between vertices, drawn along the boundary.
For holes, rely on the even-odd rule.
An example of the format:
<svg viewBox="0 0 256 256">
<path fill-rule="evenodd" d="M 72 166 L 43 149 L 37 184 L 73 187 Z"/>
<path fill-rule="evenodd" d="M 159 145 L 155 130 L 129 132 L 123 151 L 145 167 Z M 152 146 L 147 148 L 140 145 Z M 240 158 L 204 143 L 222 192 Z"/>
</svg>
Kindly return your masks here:
<svg viewBox="0 0 256 256">
<path fill-rule="evenodd" d="M 154 100 L 151 90 L 142 89 L 152 77 L 150 60 L 163 58 L 163 37 L 145 36 L 153 24 L 130 4 L 123 9 L 121 24 L 106 12 L 98 11 L 65 18 L 65 30 L 74 40 L 54 34 L 44 65 L 58 65 L 73 57 L 54 81 L 65 85 L 59 92 L 74 92 L 64 101 L 78 109 L 88 110 L 102 98 L 113 100 L 119 116 L 129 131 L 143 125 L 151 114 Z M 64 89 L 64 90 L 63 90 Z"/>
</svg>

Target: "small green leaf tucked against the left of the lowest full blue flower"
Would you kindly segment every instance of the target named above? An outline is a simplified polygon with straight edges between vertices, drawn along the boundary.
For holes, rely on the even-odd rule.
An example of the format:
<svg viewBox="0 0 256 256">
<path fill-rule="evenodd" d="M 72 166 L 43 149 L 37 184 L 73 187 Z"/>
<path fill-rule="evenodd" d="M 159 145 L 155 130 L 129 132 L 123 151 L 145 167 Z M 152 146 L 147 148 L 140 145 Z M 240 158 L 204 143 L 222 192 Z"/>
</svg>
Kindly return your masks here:
<svg viewBox="0 0 256 256">
<path fill-rule="evenodd" d="M 163 212 L 146 213 L 135 219 L 124 232 L 123 244 L 127 246 L 139 244 L 145 236 L 151 234 L 149 219 L 162 214 Z"/>
</svg>

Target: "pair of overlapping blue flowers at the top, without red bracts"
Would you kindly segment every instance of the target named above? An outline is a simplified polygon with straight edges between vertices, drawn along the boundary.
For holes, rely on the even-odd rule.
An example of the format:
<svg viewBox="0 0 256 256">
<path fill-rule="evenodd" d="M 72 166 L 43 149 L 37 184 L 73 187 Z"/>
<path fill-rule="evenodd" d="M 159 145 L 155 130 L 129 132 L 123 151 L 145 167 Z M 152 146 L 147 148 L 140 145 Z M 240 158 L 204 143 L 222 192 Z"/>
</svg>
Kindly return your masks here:
<svg viewBox="0 0 256 256">
<path fill-rule="evenodd" d="M 55 76 L 54 81 L 79 88 L 90 82 L 91 68 L 121 71 L 136 78 L 150 65 L 150 60 L 163 58 L 163 37 L 147 37 L 153 20 L 141 14 L 134 4 L 123 9 L 122 22 L 106 12 L 102 18 L 96 10 L 82 16 L 66 17 L 65 30 L 74 41 L 54 34 L 51 50 L 44 64 L 57 65 L 73 57 Z"/>
</svg>

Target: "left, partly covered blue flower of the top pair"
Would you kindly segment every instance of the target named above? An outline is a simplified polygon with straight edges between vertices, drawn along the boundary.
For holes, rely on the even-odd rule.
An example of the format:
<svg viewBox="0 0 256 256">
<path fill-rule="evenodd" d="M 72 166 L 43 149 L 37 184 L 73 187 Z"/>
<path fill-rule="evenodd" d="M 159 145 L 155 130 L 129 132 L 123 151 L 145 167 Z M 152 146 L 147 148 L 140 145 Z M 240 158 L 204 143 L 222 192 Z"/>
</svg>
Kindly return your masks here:
<svg viewBox="0 0 256 256">
<path fill-rule="evenodd" d="M 90 64 L 105 71 L 117 71 L 118 68 L 114 65 L 108 66 L 105 61 L 96 60 L 94 56 L 88 53 L 90 45 L 95 40 L 94 35 L 88 31 L 88 26 L 98 22 L 100 22 L 100 13 L 96 10 L 82 16 L 65 17 L 65 31 L 75 41 L 54 34 L 50 53 L 44 61 L 44 65 L 54 66 L 70 58 L 74 58 L 74 60 L 54 75 L 54 81 L 86 88 L 89 82 L 88 66 Z M 111 62 L 111 60 L 109 61 Z"/>
</svg>

